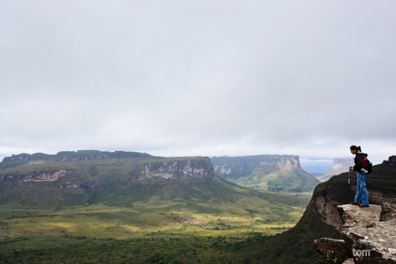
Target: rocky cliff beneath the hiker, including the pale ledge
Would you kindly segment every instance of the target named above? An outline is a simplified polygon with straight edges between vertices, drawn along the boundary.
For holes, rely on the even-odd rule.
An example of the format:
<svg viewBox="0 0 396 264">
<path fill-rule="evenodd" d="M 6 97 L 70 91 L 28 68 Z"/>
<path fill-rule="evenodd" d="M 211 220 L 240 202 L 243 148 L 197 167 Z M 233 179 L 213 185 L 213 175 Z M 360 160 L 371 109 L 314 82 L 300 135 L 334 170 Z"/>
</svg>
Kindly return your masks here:
<svg viewBox="0 0 396 264">
<path fill-rule="evenodd" d="M 349 195 L 347 182 L 348 173 L 343 173 L 331 177 L 315 188 L 303 219 L 308 215 L 318 214 L 323 222 L 334 226 L 344 237 L 340 241 L 318 239 L 314 243 L 315 249 L 322 254 L 328 253 L 329 249 L 344 255 L 347 252 L 347 256 L 353 258 L 352 263 L 395 263 L 396 256 L 389 256 L 396 255 L 396 207 L 390 205 L 396 198 L 396 156 L 374 166 L 373 173 L 367 176 L 369 208 L 348 204 L 353 201 L 356 193 L 355 173 L 350 175 Z M 357 256 L 357 250 L 359 254 L 363 250 L 365 253 L 370 252 L 370 258 Z M 385 259 L 383 256 L 389 258 Z"/>
</svg>

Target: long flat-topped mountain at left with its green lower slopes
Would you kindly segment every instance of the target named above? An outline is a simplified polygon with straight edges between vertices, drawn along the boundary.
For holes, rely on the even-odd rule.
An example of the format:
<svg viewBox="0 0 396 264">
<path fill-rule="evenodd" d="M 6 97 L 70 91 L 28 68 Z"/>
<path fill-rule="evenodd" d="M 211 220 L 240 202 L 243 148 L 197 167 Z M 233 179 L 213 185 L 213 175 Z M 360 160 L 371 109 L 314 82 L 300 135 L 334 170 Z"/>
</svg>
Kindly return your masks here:
<svg viewBox="0 0 396 264">
<path fill-rule="evenodd" d="M 137 152 L 84 150 L 13 155 L 4 158 L 0 166 L 0 206 L 12 209 L 132 206 L 155 198 L 165 204 L 195 202 L 204 207 L 223 201 L 261 212 L 267 198 L 268 203 L 280 203 L 281 207 L 282 203 L 304 203 L 297 197 L 235 186 L 214 174 L 207 157 L 162 158 Z M 280 215 L 284 214 L 281 207 L 277 209 Z M 265 212 L 271 211 L 267 208 Z"/>
</svg>

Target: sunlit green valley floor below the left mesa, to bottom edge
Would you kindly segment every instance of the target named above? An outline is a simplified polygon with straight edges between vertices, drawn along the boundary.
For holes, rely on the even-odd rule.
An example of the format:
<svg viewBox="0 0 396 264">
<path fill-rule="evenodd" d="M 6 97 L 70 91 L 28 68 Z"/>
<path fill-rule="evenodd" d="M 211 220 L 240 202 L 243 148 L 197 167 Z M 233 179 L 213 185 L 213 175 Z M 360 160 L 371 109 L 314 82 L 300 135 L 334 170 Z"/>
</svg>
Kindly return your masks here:
<svg viewBox="0 0 396 264">
<path fill-rule="evenodd" d="M 293 227 L 306 199 L 239 189 L 238 199 L 0 207 L 0 263 L 244 263 L 251 243 Z"/>
</svg>

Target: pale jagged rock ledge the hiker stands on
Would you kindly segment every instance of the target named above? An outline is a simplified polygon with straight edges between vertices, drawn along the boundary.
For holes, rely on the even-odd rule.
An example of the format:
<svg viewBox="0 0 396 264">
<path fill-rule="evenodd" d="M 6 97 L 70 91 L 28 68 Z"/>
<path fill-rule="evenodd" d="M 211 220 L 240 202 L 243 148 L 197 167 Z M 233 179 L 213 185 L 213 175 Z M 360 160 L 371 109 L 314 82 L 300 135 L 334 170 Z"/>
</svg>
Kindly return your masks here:
<svg viewBox="0 0 396 264">
<path fill-rule="evenodd" d="M 334 251 L 347 256 L 348 263 L 396 264 L 396 205 L 341 205 L 337 210 L 344 222 L 339 229 L 344 240 L 317 239 L 316 251 L 324 255 Z"/>
</svg>

